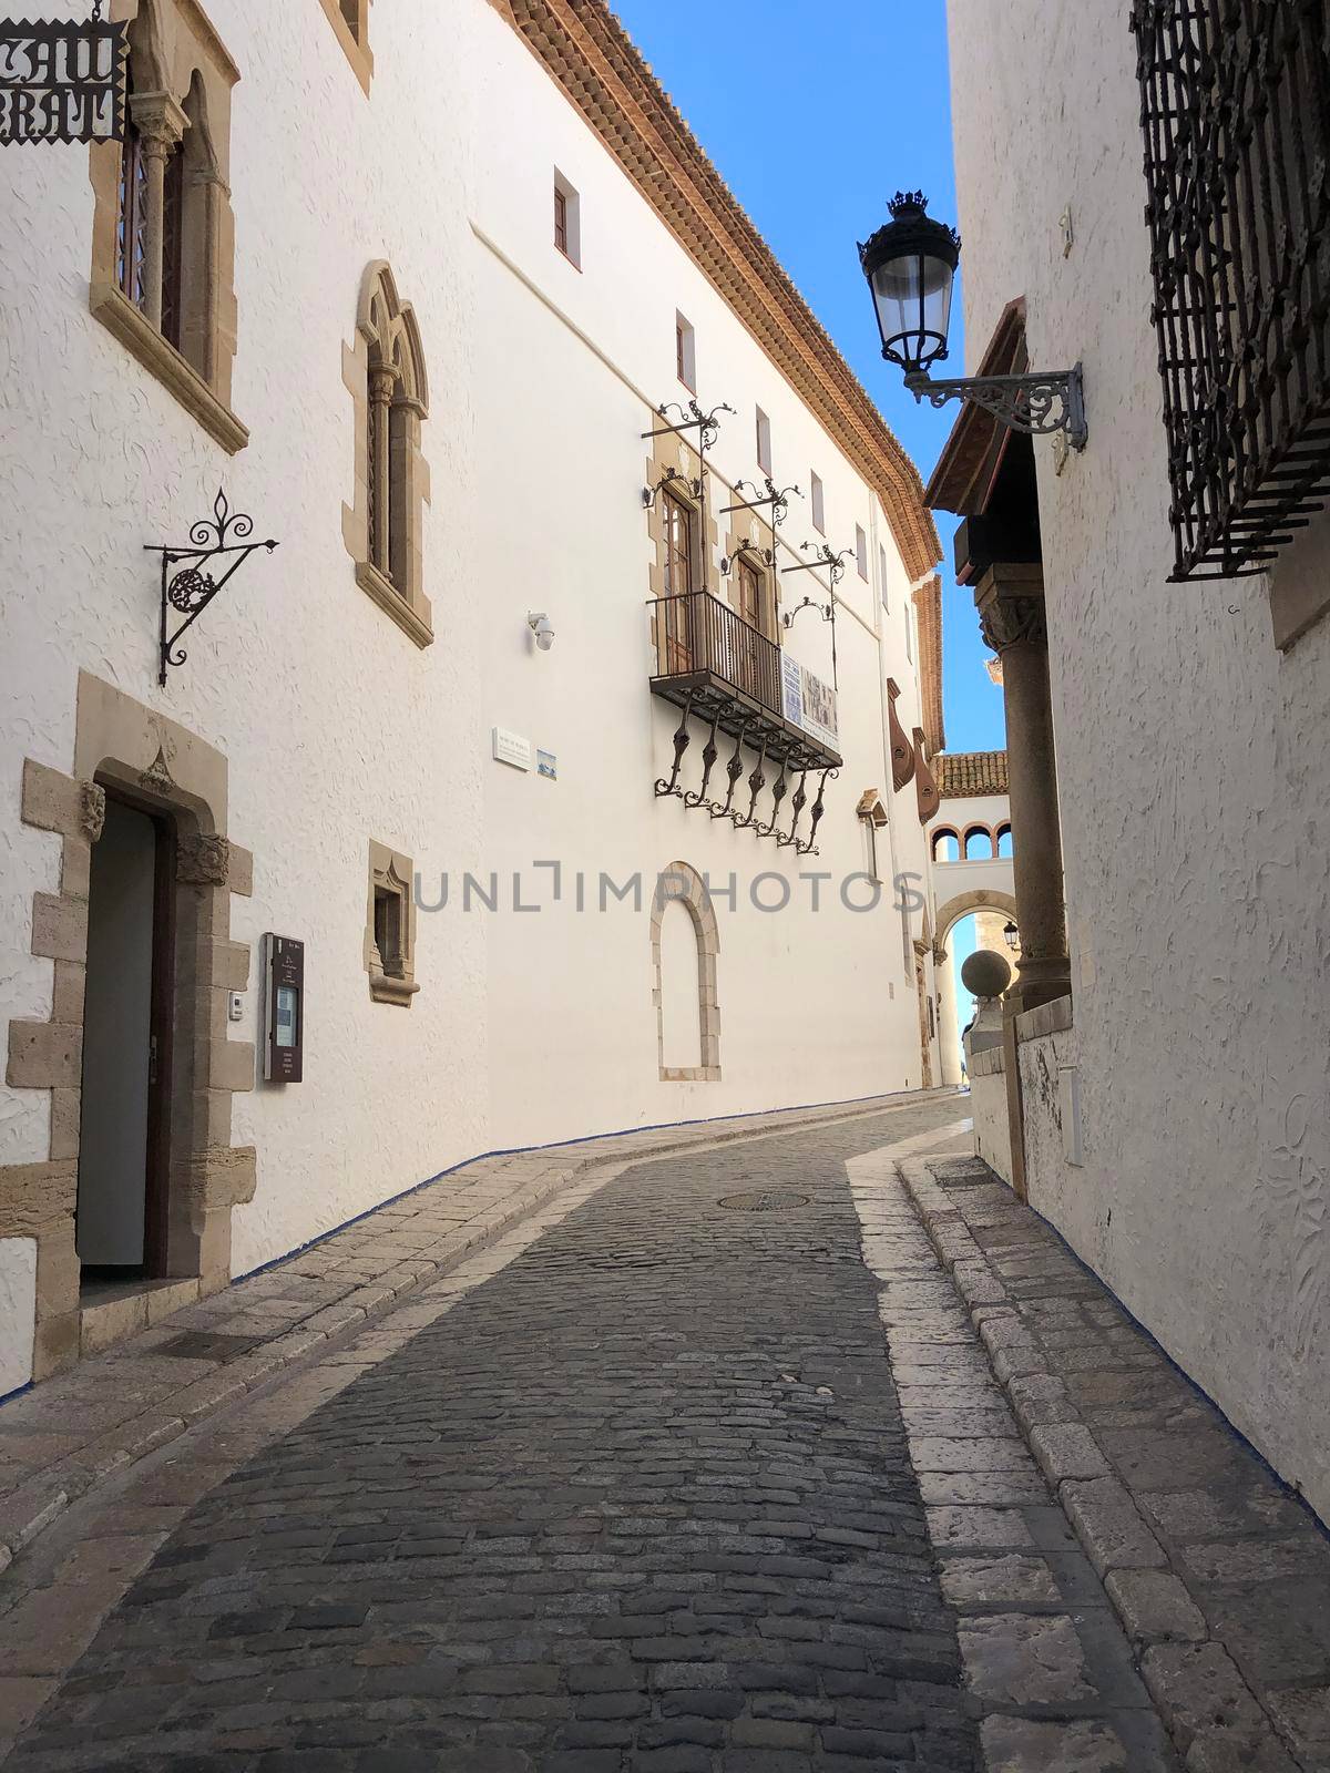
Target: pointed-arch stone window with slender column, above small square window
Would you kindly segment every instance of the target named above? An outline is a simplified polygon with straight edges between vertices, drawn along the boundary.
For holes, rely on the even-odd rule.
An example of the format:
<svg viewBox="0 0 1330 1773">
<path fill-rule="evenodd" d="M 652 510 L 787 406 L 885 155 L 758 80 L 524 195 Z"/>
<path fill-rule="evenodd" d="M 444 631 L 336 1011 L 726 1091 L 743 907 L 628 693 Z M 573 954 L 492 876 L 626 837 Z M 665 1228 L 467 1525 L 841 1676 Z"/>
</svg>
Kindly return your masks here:
<svg viewBox="0 0 1330 1773">
<path fill-rule="evenodd" d="M 424 649 L 434 640 L 424 594 L 429 463 L 420 450 L 429 376 L 415 309 L 401 300 L 387 259 L 365 268 L 355 339 L 342 346 L 342 381 L 355 408 L 355 504 L 342 505 L 342 541 L 355 560 L 356 585 Z M 371 436 L 379 440 L 374 459 Z M 379 532 L 371 512 L 376 502 L 387 502 L 385 489 L 388 525 Z"/>
</svg>

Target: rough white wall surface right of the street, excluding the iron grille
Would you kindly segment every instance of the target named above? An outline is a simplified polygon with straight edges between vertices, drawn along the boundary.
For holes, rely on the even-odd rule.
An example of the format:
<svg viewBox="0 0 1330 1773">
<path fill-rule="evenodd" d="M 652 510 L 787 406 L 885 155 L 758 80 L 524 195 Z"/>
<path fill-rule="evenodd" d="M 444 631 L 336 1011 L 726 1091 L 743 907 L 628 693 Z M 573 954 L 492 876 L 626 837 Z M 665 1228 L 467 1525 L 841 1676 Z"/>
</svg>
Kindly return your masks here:
<svg viewBox="0 0 1330 1773">
<path fill-rule="evenodd" d="M 949 25 L 970 365 L 1025 296 L 1091 431 L 1060 477 L 1037 445 L 1085 1168 L 1036 1149 L 1030 1200 L 1326 1514 L 1330 622 L 1279 652 L 1263 580 L 1167 582 L 1128 9 Z"/>
</svg>

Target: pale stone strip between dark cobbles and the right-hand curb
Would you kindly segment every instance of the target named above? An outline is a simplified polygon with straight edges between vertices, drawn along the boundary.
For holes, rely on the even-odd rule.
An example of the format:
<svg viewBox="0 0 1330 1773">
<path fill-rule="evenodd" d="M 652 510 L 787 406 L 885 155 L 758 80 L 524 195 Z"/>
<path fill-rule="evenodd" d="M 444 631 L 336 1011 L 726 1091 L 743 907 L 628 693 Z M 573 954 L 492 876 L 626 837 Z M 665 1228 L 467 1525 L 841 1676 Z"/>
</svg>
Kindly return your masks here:
<svg viewBox="0 0 1330 1773">
<path fill-rule="evenodd" d="M 1021 1441 L 897 1163 L 848 1160 L 910 1459 L 990 1773 L 1176 1773 L 1103 1582 Z"/>
</svg>

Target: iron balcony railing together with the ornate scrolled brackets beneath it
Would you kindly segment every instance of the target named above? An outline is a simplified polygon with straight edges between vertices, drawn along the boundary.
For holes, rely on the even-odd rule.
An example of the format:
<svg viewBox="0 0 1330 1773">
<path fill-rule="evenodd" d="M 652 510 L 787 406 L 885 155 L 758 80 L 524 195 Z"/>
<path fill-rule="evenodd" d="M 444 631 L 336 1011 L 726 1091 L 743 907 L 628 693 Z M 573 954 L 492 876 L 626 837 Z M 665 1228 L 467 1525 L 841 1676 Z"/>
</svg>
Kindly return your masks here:
<svg viewBox="0 0 1330 1773">
<path fill-rule="evenodd" d="M 656 796 L 677 798 L 713 819 L 729 819 L 738 832 L 771 837 L 780 847 L 793 846 L 798 855 L 816 855 L 826 784 L 839 775 L 841 757 L 784 718 L 780 647 L 706 590 L 656 598 L 649 610 L 656 649 L 651 690 L 681 709 L 674 762 L 669 777 L 654 784 Z M 690 720 L 706 727 L 697 787 L 685 787 L 681 780 L 692 745 Z M 722 736 L 734 743 L 725 746 L 725 794 L 718 800 L 709 791 Z M 745 746 L 755 757 L 747 775 Z M 800 824 L 810 800 L 809 777 L 818 791 L 803 833 Z M 764 793 L 770 796 L 766 816 L 759 812 Z M 787 794 L 791 821 L 787 830 L 780 830 Z"/>
</svg>

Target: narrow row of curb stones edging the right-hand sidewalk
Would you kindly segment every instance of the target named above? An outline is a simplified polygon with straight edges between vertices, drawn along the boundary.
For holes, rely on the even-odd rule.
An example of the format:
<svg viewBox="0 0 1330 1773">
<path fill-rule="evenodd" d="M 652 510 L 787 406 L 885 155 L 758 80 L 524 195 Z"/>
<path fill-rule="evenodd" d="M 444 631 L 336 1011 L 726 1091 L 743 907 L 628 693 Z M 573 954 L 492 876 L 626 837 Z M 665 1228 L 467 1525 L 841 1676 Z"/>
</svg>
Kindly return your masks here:
<svg viewBox="0 0 1330 1773">
<path fill-rule="evenodd" d="M 903 1161 L 897 1172 L 975 1324 L 1025 1443 L 1103 1580 L 1186 1773 L 1298 1773 L 1300 1768 L 1316 1773 L 1310 1761 L 1295 1761 L 1279 1746 L 1279 1723 L 1222 1640 L 1211 1635 L 1167 1550 L 929 1163 Z M 991 1179 L 1005 1188 L 997 1175 Z M 975 1186 L 982 1183 L 977 1179 Z M 1089 1275 L 1068 1293 L 1112 1298 Z"/>
</svg>

